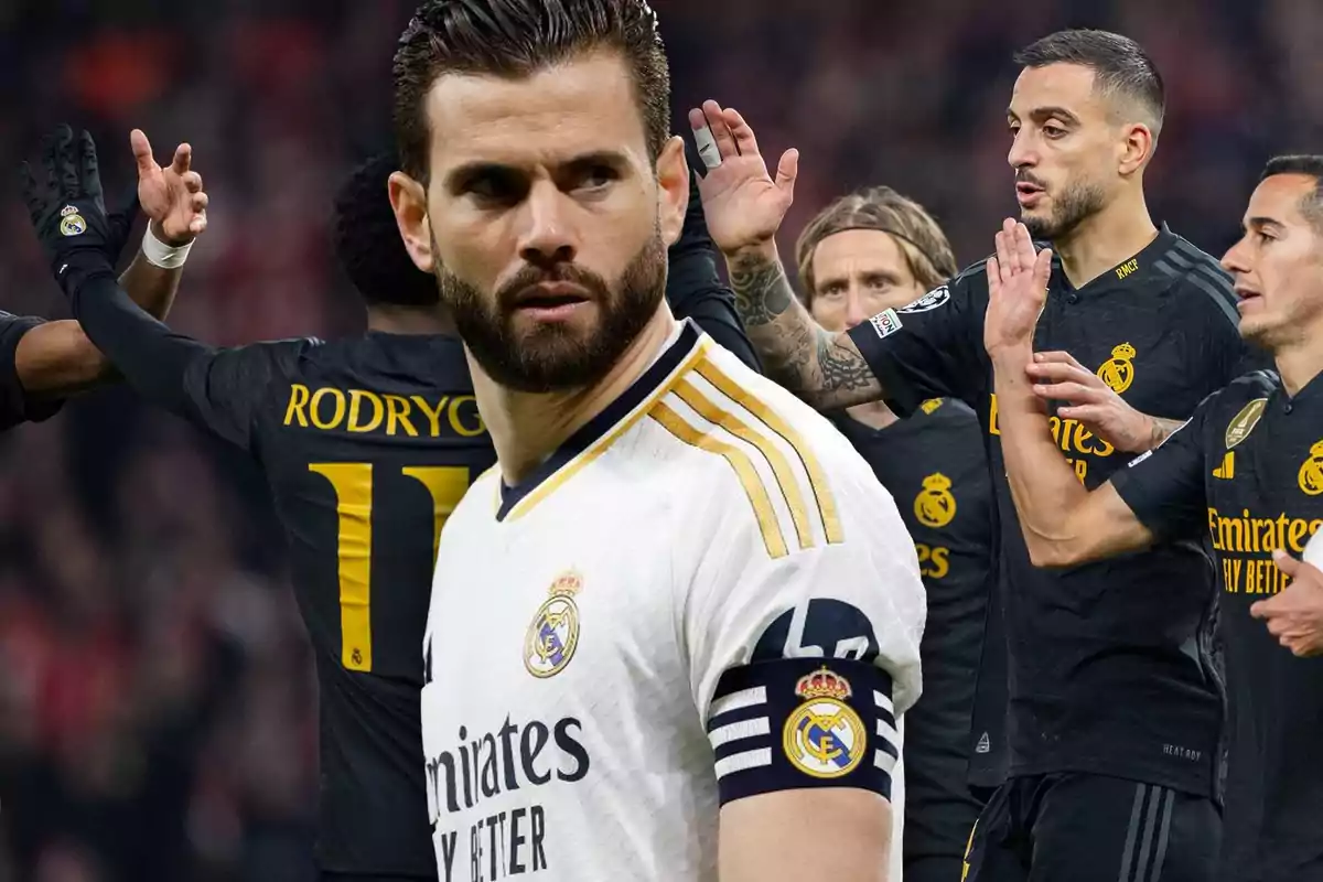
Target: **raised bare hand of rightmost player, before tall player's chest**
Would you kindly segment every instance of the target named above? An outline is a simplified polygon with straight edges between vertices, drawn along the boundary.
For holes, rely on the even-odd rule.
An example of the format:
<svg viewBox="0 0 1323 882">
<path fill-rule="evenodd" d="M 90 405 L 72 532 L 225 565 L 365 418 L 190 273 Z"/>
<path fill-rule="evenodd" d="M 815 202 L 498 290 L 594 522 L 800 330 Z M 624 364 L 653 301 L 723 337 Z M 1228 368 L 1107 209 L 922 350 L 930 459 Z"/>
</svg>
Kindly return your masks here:
<svg viewBox="0 0 1323 882">
<path fill-rule="evenodd" d="M 988 258 L 988 308 L 983 345 L 990 356 L 1033 346 L 1033 328 L 1048 300 L 1052 249 L 1033 251 L 1024 223 L 1007 218 L 996 234 L 996 257 Z"/>
</svg>

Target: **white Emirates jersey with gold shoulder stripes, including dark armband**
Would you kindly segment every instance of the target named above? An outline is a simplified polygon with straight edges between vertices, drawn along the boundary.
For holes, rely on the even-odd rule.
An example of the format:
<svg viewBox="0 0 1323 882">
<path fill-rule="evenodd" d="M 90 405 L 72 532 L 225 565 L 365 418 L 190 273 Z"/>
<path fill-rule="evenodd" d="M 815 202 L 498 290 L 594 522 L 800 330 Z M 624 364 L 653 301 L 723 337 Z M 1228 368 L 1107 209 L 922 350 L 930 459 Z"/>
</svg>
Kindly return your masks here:
<svg viewBox="0 0 1323 882">
<path fill-rule="evenodd" d="M 726 801 L 896 797 L 923 598 L 851 444 L 681 325 L 524 484 L 492 469 L 446 524 L 422 692 L 441 878 L 716 879 Z"/>
</svg>

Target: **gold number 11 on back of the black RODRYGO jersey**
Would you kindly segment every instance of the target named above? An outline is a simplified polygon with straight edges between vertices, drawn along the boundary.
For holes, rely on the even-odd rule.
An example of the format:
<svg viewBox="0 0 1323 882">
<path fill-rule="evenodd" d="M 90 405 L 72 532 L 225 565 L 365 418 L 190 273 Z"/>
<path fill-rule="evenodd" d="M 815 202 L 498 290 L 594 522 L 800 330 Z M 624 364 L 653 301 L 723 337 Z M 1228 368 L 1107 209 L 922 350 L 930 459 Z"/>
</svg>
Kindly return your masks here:
<svg viewBox="0 0 1323 882">
<path fill-rule="evenodd" d="M 372 670 L 372 463 L 314 463 L 336 495 L 340 521 L 340 662 L 349 670 Z M 402 469 L 431 496 L 431 555 L 437 559 L 441 528 L 468 489 L 463 465 L 417 465 Z M 422 516 L 422 512 L 419 512 Z"/>
</svg>

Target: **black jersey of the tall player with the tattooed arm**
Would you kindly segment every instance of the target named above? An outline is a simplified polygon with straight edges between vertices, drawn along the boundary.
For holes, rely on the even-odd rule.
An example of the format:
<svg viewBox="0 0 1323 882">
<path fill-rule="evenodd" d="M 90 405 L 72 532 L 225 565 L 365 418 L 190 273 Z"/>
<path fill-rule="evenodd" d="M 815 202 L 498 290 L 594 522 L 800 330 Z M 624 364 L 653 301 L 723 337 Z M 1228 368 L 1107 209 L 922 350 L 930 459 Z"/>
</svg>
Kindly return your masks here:
<svg viewBox="0 0 1323 882">
<path fill-rule="evenodd" d="M 1072 570 L 1031 565 L 983 348 L 987 300 L 979 263 L 851 339 L 897 414 L 950 395 L 979 415 L 1000 525 L 1009 772 L 1093 772 L 1212 795 L 1222 697 L 1209 653 L 1211 554 L 1197 542 L 1167 542 Z M 1187 418 L 1262 357 L 1240 339 L 1228 276 L 1166 227 L 1080 288 L 1054 263 L 1035 349 L 1069 352 L 1129 405 L 1168 419 Z M 1052 411 L 1062 455 L 1086 485 L 1130 459 Z"/>
</svg>

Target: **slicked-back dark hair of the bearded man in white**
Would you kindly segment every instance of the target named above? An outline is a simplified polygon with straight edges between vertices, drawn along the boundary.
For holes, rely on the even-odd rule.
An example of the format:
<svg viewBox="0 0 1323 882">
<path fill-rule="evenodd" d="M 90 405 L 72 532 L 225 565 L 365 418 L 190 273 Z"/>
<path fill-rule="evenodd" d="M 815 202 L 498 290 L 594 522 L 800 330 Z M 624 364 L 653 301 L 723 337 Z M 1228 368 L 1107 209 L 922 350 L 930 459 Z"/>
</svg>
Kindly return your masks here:
<svg viewBox="0 0 1323 882">
<path fill-rule="evenodd" d="M 671 134 L 671 69 L 646 0 L 427 0 L 400 37 L 393 67 L 402 171 L 427 180 L 426 98 L 439 77 L 524 78 L 595 49 L 624 58 L 656 160 Z"/>
</svg>

